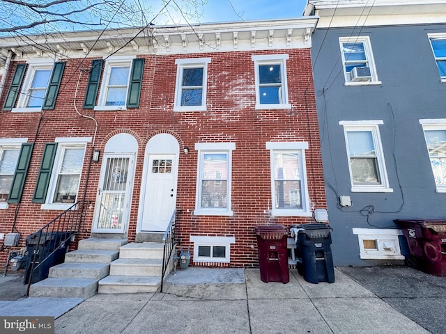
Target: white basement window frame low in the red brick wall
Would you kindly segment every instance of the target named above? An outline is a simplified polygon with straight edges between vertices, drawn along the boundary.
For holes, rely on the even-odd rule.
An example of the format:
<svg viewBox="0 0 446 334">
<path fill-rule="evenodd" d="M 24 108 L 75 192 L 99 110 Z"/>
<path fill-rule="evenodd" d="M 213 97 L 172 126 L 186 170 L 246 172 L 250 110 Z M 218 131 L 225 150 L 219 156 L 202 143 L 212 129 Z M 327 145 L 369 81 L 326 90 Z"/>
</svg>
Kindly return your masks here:
<svg viewBox="0 0 446 334">
<path fill-rule="evenodd" d="M 229 263 L 231 262 L 231 244 L 236 242 L 236 238 L 231 237 L 210 237 L 191 235 L 190 241 L 194 244 L 194 262 L 214 262 Z M 218 250 L 217 250 L 218 248 Z M 214 256 L 224 248 L 224 256 Z M 207 253 L 209 256 L 200 256 L 200 253 Z"/>
</svg>

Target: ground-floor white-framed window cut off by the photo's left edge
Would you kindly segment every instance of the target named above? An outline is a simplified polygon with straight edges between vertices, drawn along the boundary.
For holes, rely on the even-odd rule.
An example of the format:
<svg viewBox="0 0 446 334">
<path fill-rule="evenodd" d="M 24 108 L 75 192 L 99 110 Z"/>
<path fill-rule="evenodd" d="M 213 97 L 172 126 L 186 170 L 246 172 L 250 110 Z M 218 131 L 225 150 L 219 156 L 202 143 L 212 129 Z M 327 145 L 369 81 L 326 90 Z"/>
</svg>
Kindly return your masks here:
<svg viewBox="0 0 446 334">
<path fill-rule="evenodd" d="M 0 209 L 6 209 L 11 184 L 15 173 L 15 166 L 19 159 L 20 145 L 26 138 L 0 139 Z"/>
</svg>

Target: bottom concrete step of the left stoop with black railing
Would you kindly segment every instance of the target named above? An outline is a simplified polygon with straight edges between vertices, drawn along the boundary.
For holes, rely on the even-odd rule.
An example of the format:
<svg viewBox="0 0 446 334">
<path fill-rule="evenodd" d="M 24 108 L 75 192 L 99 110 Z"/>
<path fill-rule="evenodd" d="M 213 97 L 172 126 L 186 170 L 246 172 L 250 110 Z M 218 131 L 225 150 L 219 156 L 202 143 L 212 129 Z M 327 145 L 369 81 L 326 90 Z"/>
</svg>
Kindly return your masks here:
<svg viewBox="0 0 446 334">
<path fill-rule="evenodd" d="M 87 278 L 47 278 L 31 285 L 30 297 L 79 297 L 87 299 L 98 291 L 98 280 Z"/>
</svg>

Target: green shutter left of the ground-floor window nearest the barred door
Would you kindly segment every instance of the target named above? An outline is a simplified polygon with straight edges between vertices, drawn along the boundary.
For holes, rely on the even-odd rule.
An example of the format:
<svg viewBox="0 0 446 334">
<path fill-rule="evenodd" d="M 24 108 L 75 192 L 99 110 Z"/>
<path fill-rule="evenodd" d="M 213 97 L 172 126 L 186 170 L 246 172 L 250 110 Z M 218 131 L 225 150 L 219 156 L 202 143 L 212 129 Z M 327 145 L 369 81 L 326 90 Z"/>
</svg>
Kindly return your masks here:
<svg viewBox="0 0 446 334">
<path fill-rule="evenodd" d="M 42 161 L 40 162 L 40 170 L 37 177 L 36 188 L 34 189 L 33 203 L 45 203 L 49 178 L 51 177 L 54 157 L 56 156 L 56 149 L 57 143 L 45 144 Z"/>
</svg>

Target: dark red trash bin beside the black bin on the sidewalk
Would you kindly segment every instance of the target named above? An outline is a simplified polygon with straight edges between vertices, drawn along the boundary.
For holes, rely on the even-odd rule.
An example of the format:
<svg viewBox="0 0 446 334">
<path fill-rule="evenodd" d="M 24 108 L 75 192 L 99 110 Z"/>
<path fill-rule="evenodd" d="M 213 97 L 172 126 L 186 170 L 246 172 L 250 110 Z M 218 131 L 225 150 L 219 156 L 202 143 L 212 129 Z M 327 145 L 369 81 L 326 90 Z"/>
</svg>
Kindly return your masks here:
<svg viewBox="0 0 446 334">
<path fill-rule="evenodd" d="M 261 280 L 289 283 L 286 228 L 283 225 L 257 226 L 256 236 Z"/>
</svg>

